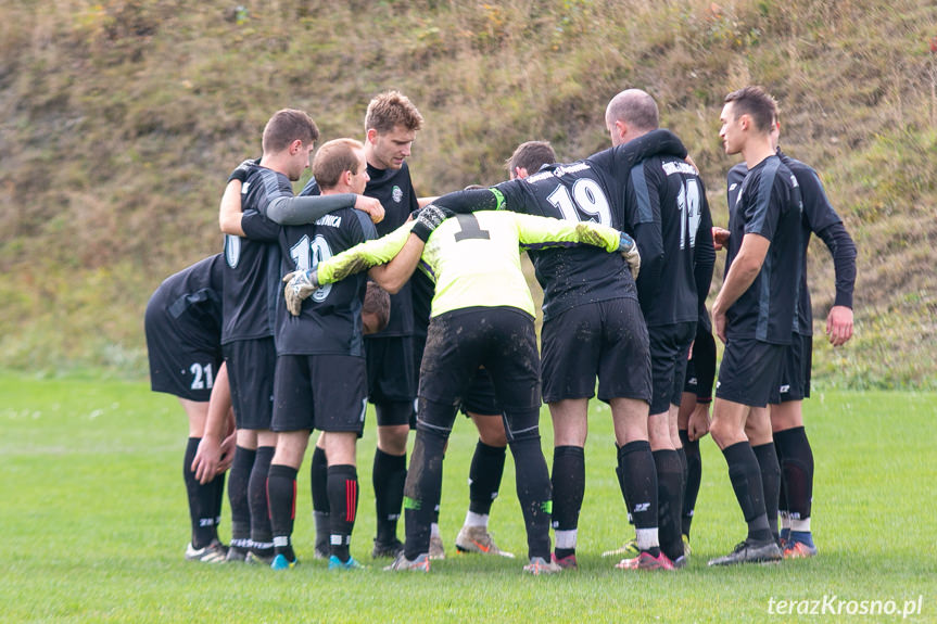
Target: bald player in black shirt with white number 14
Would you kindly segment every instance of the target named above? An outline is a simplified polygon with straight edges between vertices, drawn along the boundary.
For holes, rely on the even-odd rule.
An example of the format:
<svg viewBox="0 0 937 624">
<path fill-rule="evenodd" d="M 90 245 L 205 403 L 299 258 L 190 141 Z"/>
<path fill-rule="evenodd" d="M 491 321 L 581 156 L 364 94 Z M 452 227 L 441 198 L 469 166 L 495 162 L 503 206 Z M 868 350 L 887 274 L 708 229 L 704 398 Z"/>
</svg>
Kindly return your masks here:
<svg viewBox="0 0 937 624">
<path fill-rule="evenodd" d="M 640 89 L 615 95 L 606 107 L 612 145 L 659 127 L 657 103 Z M 650 156 L 632 167 L 626 187 L 628 230 L 641 251 L 637 298 L 650 338 L 650 450 L 657 469 L 660 544 L 681 565 L 686 457 L 678 434 L 678 411 L 699 302 L 709 293 L 712 220 L 706 189 L 695 167 L 673 155 Z M 628 475 L 625 475 L 628 477 Z M 637 568 L 641 555 L 619 566 Z M 645 564 L 650 561 L 645 556 Z"/>
</svg>

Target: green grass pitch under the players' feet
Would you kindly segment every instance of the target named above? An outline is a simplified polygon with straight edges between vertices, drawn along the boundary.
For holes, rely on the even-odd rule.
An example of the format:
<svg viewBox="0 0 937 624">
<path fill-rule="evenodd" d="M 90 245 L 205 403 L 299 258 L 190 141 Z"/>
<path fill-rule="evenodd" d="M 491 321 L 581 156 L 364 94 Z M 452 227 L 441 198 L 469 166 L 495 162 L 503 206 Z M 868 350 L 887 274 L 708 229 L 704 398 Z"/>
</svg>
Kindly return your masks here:
<svg viewBox="0 0 937 624">
<path fill-rule="evenodd" d="M 744 537 L 725 462 L 707 438 L 691 564 L 649 574 L 615 570 L 613 561 L 599 557 L 629 537 L 630 527 L 612 471 L 610 416 L 595 404 L 580 570 L 554 577 L 522 575 L 521 559 L 455 553 L 476 440 L 465 421 L 457 422 L 446 456 L 441 526 L 449 558 L 434 562 L 429 575 L 384 573 L 377 564 L 359 574 L 331 574 L 313 560 L 305 467 L 294 534 L 302 564 L 273 573 L 182 559 L 189 539 L 181 481 L 187 428 L 175 398 L 141 383 L 24 377 L 0 378 L 0 396 L 3 622 L 897 621 L 906 601 L 921 606 L 907 621 L 937 621 L 933 393 L 815 392 L 807 402 L 821 549 L 812 560 L 706 566 Z M 362 504 L 352 546 L 368 563 L 373 443 L 369 422 L 359 444 Z M 502 547 L 523 555 L 510 461 L 492 531 Z M 827 611 L 774 614 L 780 600 L 815 600 Z M 863 600 L 898 614 L 850 616 Z M 830 613 L 835 604 L 838 615 Z"/>
</svg>

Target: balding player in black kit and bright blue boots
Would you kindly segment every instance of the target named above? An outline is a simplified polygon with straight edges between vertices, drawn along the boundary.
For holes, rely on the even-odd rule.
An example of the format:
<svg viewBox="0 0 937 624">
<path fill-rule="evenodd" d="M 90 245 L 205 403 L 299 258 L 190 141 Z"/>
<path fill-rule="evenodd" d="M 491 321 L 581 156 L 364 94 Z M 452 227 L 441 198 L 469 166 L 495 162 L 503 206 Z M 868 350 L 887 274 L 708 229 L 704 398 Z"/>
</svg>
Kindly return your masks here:
<svg viewBox="0 0 937 624">
<path fill-rule="evenodd" d="M 362 193 L 368 181 L 364 145 L 352 139 L 324 144 L 313 162 L 322 196 Z M 359 242 L 376 238 L 370 219 L 352 208 L 332 212 L 314 225 L 280 230 L 280 273 L 307 270 Z M 379 268 L 372 269 L 381 270 Z M 274 570 L 296 563 L 291 535 L 296 506 L 296 471 L 313 429 L 325 432 L 330 513 L 329 569 L 362 565 L 349 550 L 358 500 L 355 443 L 364 429 L 367 380 L 362 308 L 366 276 L 324 286 L 292 316 L 278 300 L 277 370 L 271 429 L 277 444 L 267 496 Z"/>
</svg>

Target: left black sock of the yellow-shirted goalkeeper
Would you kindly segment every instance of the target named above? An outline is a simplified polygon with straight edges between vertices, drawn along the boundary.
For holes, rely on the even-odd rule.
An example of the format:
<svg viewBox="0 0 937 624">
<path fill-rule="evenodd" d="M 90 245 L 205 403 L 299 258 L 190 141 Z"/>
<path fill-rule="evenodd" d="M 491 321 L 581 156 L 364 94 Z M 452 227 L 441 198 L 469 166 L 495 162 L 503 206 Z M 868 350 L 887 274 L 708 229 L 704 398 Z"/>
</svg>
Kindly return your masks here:
<svg viewBox="0 0 937 624">
<path fill-rule="evenodd" d="M 430 550 L 430 524 L 440 501 L 447 437 L 447 433 L 417 430 L 404 497 L 404 553 L 410 561 Z"/>
</svg>

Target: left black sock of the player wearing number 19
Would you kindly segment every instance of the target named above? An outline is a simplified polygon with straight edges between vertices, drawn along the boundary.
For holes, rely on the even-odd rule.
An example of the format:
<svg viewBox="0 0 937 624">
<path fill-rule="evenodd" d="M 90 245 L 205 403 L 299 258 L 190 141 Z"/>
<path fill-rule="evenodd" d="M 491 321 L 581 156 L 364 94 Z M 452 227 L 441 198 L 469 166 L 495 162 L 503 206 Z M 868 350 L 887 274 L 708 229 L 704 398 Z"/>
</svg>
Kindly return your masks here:
<svg viewBox="0 0 937 624">
<path fill-rule="evenodd" d="M 562 559 L 575 552 L 575 531 L 585 493 L 585 453 L 581 447 L 557 446 L 553 449 L 550 481 L 555 552 L 557 559 Z"/>
</svg>

